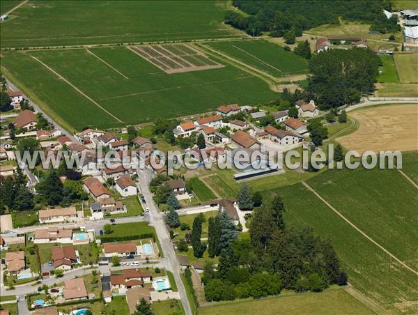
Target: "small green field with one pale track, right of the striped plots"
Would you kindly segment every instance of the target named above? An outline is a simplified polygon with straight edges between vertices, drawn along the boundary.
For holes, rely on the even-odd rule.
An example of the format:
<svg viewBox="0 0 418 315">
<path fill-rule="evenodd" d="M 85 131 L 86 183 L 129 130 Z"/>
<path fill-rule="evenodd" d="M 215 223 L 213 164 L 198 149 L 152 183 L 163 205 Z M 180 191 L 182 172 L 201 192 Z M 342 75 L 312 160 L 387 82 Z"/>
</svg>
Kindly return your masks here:
<svg viewBox="0 0 418 315">
<path fill-rule="evenodd" d="M 208 47 L 233 57 L 274 77 L 307 73 L 307 61 L 267 40 L 207 43 Z"/>
</svg>

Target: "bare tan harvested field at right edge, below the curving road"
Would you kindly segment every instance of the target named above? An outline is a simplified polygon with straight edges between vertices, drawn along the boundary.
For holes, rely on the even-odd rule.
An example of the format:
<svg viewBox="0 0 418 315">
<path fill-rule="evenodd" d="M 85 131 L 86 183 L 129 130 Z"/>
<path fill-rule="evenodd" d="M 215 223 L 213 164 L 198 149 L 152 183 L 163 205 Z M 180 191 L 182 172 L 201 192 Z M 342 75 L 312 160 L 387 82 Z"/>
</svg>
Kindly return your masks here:
<svg viewBox="0 0 418 315">
<path fill-rule="evenodd" d="M 359 129 L 339 138 L 347 150 L 418 150 L 418 105 L 389 105 L 349 113 Z"/>
</svg>

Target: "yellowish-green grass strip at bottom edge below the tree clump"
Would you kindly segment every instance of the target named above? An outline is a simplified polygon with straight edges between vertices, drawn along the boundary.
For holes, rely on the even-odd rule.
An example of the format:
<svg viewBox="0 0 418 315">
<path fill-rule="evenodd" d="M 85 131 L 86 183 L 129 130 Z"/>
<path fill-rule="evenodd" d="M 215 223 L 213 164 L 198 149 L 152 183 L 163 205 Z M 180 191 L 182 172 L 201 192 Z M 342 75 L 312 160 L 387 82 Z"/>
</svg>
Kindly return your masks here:
<svg viewBox="0 0 418 315">
<path fill-rule="evenodd" d="M 300 293 L 261 300 L 245 300 L 199 307 L 199 315 L 223 314 L 375 314 L 343 289 Z"/>
</svg>

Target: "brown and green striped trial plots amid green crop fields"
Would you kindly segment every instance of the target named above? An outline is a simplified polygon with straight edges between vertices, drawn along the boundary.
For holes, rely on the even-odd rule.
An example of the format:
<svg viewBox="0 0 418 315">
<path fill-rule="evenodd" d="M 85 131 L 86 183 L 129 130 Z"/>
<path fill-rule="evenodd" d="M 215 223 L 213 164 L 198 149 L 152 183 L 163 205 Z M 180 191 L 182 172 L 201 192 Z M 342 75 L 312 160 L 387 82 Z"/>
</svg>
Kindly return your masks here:
<svg viewBox="0 0 418 315">
<path fill-rule="evenodd" d="M 203 52 L 185 44 L 131 46 L 130 49 L 169 74 L 223 67 Z"/>
</svg>

